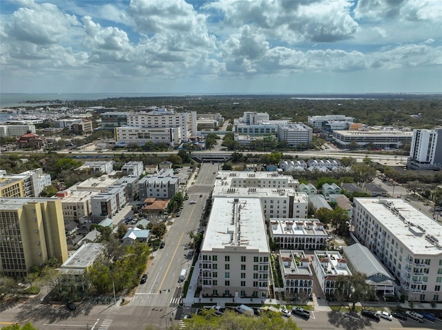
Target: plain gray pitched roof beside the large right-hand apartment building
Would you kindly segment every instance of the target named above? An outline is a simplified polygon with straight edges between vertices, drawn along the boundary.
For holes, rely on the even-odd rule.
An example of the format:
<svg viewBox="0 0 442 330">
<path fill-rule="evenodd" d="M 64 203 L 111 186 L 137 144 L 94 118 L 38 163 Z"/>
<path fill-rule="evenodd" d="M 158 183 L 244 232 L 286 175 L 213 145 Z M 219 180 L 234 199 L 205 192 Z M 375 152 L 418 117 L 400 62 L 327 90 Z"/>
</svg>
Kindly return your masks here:
<svg viewBox="0 0 442 330">
<path fill-rule="evenodd" d="M 361 244 L 353 244 L 349 247 L 343 247 L 345 258 L 349 260 L 356 271 L 359 271 L 367 276 L 370 280 L 377 282 L 388 278 L 394 280 L 394 277 L 387 271 L 387 269 L 376 259 L 372 252 Z M 379 276 L 381 275 L 381 276 Z M 377 282 L 378 283 L 378 282 Z"/>
</svg>

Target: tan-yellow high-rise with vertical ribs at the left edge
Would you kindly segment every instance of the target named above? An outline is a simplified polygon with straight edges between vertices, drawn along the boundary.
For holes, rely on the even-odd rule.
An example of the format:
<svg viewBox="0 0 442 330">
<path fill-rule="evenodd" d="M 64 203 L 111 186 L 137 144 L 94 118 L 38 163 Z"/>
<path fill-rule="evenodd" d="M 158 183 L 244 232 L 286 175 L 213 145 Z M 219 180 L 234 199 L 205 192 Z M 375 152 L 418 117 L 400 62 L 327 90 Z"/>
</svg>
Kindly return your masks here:
<svg viewBox="0 0 442 330">
<path fill-rule="evenodd" d="M 50 258 L 64 262 L 68 249 L 61 200 L 0 199 L 0 274 L 24 278 Z"/>
</svg>

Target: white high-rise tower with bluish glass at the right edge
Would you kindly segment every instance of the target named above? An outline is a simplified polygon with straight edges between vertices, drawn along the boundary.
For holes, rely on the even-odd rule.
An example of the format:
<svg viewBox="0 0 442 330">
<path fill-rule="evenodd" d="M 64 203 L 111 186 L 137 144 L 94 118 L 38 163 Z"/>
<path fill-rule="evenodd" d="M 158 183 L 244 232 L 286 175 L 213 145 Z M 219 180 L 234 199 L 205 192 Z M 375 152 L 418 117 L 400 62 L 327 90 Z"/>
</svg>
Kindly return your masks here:
<svg viewBox="0 0 442 330">
<path fill-rule="evenodd" d="M 442 128 L 413 130 L 408 167 L 442 169 Z"/>
</svg>

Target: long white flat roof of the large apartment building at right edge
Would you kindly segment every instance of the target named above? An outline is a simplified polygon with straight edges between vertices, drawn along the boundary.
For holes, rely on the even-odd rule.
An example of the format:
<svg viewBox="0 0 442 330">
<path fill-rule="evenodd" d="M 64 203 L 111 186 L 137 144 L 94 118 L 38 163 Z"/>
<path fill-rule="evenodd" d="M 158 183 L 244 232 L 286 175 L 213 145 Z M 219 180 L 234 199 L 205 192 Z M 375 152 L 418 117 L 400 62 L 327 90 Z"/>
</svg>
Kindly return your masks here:
<svg viewBox="0 0 442 330">
<path fill-rule="evenodd" d="M 442 225 L 401 198 L 354 198 L 413 254 L 442 254 Z M 439 245 L 439 247 L 437 246 Z"/>
</svg>

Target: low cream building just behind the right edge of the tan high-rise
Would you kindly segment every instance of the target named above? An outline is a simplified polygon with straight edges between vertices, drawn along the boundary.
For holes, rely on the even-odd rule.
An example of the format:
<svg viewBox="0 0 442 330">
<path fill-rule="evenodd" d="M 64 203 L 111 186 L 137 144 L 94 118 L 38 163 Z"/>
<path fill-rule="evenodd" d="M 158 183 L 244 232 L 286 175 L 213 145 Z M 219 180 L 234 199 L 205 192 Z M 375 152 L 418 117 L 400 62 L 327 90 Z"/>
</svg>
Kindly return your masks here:
<svg viewBox="0 0 442 330">
<path fill-rule="evenodd" d="M 64 223 L 79 221 L 85 217 L 89 218 L 92 214 L 90 199 L 97 194 L 99 194 L 97 191 L 88 192 L 74 189 L 57 192 L 57 197 L 61 198 Z"/>
</svg>

